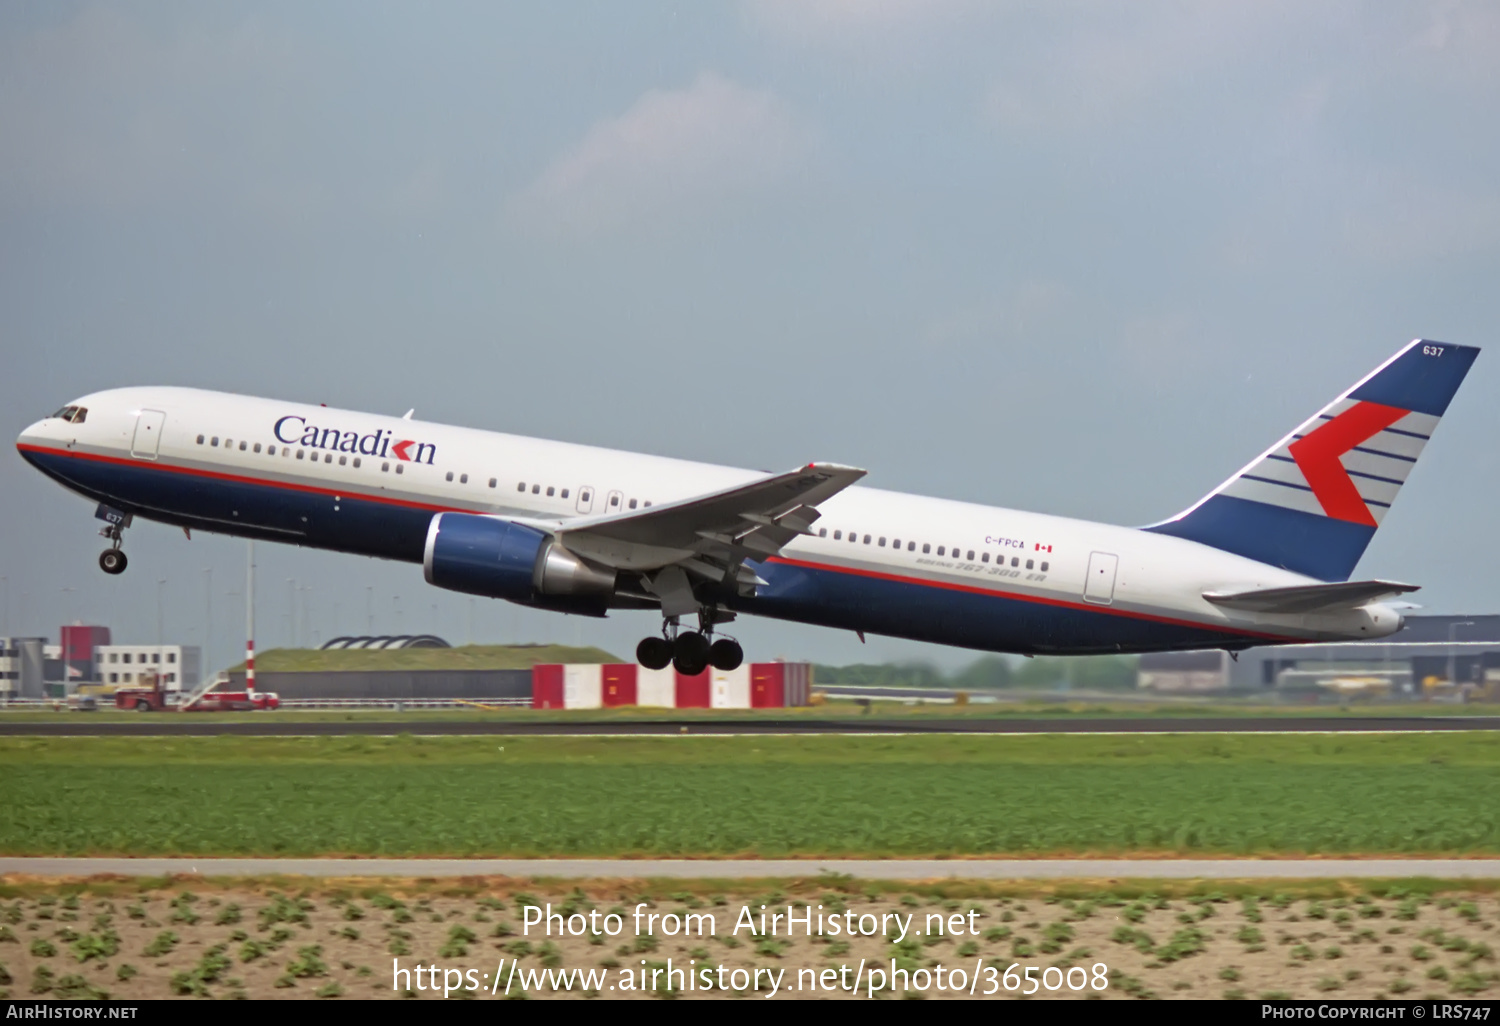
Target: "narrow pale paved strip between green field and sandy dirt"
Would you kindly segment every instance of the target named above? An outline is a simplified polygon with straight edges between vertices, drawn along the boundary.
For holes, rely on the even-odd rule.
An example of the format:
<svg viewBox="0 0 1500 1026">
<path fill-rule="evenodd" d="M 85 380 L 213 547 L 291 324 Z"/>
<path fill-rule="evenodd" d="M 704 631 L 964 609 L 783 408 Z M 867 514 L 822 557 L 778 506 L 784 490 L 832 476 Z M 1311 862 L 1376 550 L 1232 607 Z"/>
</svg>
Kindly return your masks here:
<svg viewBox="0 0 1500 1026">
<path fill-rule="evenodd" d="M 594 860 L 594 858 L 0 858 L 0 874 L 318 876 L 522 879 L 786 879 L 822 874 L 878 880 L 1065 879 L 1500 879 L 1500 860 Z"/>
</svg>

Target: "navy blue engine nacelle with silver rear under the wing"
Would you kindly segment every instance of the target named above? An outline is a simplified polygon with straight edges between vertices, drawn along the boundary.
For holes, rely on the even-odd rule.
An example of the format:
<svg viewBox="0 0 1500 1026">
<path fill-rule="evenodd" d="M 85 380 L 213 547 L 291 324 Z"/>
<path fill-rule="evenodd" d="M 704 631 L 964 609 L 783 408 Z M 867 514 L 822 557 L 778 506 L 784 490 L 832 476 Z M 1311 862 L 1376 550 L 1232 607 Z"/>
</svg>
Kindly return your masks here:
<svg viewBox="0 0 1500 1026">
<path fill-rule="evenodd" d="M 438 513 L 422 555 L 428 584 L 524 606 L 603 616 L 615 572 L 596 567 L 544 531 L 472 513 Z"/>
</svg>

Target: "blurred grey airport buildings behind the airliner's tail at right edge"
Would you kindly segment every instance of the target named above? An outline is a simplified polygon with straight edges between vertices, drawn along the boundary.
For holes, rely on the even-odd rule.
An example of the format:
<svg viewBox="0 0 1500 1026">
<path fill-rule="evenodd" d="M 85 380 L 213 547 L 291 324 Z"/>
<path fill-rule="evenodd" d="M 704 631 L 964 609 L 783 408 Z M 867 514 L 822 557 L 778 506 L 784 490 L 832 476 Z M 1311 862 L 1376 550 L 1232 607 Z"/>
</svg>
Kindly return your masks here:
<svg viewBox="0 0 1500 1026">
<path fill-rule="evenodd" d="M 1383 694 L 1500 699 L 1500 615 L 1407 616 L 1368 642 L 1266 645 L 1140 657 L 1138 686 L 1164 693 Z"/>
</svg>

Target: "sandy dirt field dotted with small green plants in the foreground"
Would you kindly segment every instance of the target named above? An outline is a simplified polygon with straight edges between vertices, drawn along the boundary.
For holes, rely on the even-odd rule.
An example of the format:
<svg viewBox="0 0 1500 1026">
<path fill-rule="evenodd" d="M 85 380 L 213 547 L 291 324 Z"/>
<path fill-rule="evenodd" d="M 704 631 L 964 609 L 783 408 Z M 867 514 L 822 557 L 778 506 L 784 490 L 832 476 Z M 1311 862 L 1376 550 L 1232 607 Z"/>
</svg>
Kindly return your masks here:
<svg viewBox="0 0 1500 1026">
<path fill-rule="evenodd" d="M 1054 987 L 1038 982 L 1036 998 L 1500 992 L 1492 951 L 1500 900 L 1492 892 L 1282 884 L 1156 894 L 1102 886 L 960 894 L 848 880 L 786 885 L 784 892 L 666 891 L 639 882 L 530 892 L 520 886 L 470 880 L 462 888 L 381 888 L 362 880 L 344 888 L 224 884 L 192 891 L 160 882 L 142 890 L 8 880 L 0 891 L 0 996 L 441 999 L 444 970 L 458 970 L 447 976 L 450 1000 L 500 999 L 507 984 L 512 998 L 849 998 L 855 978 L 861 999 L 872 990 L 876 998 L 969 996 L 970 987 L 975 996 L 993 988 L 1000 998 L 1032 988 L 1023 980 L 1026 966 Z M 640 902 L 642 916 L 658 918 L 642 920 L 638 933 Z M 585 936 L 560 938 L 566 927 L 558 920 L 550 939 L 538 926 L 526 932 L 524 906 L 548 903 L 555 914 L 579 916 L 572 924 Z M 795 936 L 788 938 L 784 918 L 774 922 L 776 936 L 759 933 L 760 906 L 766 916 L 784 916 L 788 904 L 798 918 Z M 814 932 L 824 916 L 824 936 L 804 936 L 804 906 L 812 908 Z M 588 928 L 591 914 L 597 932 Z M 609 914 L 620 918 L 606 920 Z M 682 936 L 681 916 L 688 914 L 711 915 L 712 924 L 690 920 L 694 933 Z M 668 915 L 678 918 L 662 918 Z M 867 916 L 867 930 L 885 927 L 891 936 L 848 938 L 843 928 L 834 934 L 836 916 L 840 927 L 856 930 Z M 898 922 L 908 924 L 904 939 Z M 897 974 L 894 988 L 892 960 L 908 974 Z M 1012 963 L 1016 990 L 1008 990 L 1002 974 Z M 1100 963 L 1107 970 L 1095 969 Z M 418 966 L 423 972 L 412 975 Z M 430 966 L 438 968 L 436 990 Z M 408 975 L 393 986 L 396 968 Z M 592 978 L 580 975 L 590 970 Z M 555 988 L 560 974 L 567 984 Z M 483 990 L 459 990 L 466 984 Z"/>
</svg>

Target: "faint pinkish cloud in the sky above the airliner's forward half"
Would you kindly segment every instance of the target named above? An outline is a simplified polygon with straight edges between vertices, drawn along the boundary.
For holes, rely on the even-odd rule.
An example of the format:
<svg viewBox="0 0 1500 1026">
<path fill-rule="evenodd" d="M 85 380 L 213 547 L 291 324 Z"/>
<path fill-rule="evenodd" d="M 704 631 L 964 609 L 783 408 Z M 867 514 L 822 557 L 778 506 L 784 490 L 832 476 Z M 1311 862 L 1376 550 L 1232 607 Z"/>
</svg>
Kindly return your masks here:
<svg viewBox="0 0 1500 1026">
<path fill-rule="evenodd" d="M 508 207 L 574 231 L 678 219 L 771 188 L 810 153 L 810 134 L 774 94 L 704 74 L 591 128 Z"/>
</svg>

